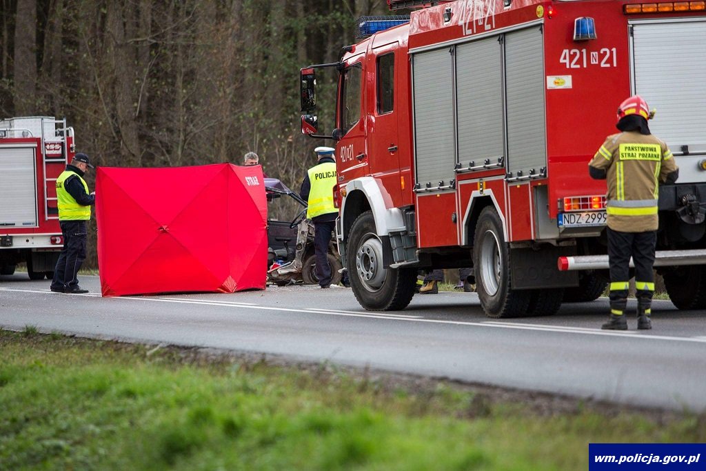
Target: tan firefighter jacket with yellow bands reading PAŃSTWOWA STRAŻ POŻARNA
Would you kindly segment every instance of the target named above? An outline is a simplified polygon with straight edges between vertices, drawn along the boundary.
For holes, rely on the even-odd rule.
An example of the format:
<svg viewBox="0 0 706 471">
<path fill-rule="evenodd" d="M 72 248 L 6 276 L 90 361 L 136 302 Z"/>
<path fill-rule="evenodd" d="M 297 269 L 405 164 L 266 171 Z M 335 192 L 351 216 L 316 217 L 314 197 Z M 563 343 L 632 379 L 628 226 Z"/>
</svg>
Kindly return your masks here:
<svg viewBox="0 0 706 471">
<path fill-rule="evenodd" d="M 608 181 L 608 227 L 620 232 L 657 230 L 659 183 L 676 180 L 678 167 L 664 141 L 626 131 L 608 136 L 589 163 L 592 177 Z"/>
</svg>

